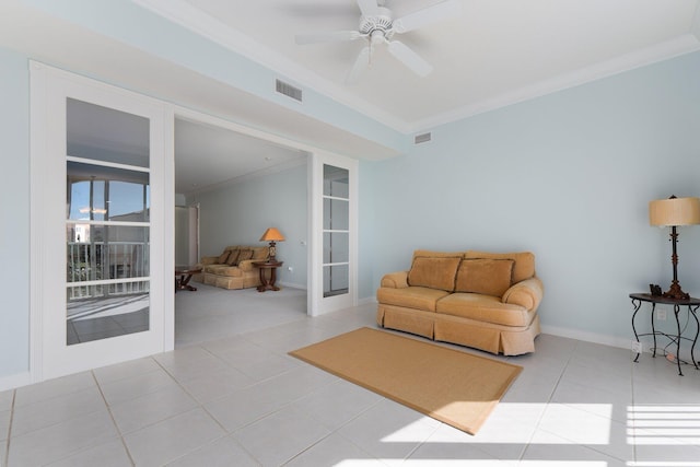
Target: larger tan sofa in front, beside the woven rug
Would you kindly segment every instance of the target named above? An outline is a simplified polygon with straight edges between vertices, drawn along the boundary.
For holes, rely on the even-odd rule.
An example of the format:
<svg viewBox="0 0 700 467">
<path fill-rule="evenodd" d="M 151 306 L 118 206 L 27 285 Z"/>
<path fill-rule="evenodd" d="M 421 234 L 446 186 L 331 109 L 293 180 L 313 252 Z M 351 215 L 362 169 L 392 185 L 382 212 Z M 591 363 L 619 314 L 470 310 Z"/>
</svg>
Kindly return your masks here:
<svg viewBox="0 0 700 467">
<path fill-rule="evenodd" d="M 535 351 L 542 282 L 528 252 L 416 250 L 411 269 L 382 278 L 380 326 L 517 355 Z"/>
</svg>

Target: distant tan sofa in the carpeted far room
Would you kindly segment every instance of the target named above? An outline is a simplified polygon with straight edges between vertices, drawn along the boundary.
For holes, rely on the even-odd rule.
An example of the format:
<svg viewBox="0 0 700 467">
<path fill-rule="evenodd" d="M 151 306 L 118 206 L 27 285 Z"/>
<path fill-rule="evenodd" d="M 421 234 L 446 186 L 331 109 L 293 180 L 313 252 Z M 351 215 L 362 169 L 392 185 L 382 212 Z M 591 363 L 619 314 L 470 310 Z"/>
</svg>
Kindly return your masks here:
<svg viewBox="0 0 700 467">
<path fill-rule="evenodd" d="M 254 261 L 264 261 L 269 246 L 228 246 L 219 256 L 205 256 L 198 266 L 202 272 L 192 276 L 197 282 L 222 289 L 247 289 L 260 284 L 260 271 Z"/>
</svg>

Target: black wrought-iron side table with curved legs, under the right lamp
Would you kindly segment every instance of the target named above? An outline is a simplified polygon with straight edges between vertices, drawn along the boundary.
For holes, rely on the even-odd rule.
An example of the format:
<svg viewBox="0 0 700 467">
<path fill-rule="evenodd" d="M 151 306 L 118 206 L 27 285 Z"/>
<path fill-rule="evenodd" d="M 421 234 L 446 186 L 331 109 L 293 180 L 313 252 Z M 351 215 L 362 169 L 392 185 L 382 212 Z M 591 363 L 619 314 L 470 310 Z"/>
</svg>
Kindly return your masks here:
<svg viewBox="0 0 700 467">
<path fill-rule="evenodd" d="M 634 307 L 634 313 L 632 314 L 632 330 L 634 331 L 634 338 L 637 339 L 637 342 L 639 342 L 640 336 L 652 336 L 654 338 L 652 357 L 656 357 L 656 336 L 666 337 L 670 340 L 672 343 L 676 343 L 676 362 L 678 364 L 678 374 L 682 376 L 682 371 L 680 370 L 680 341 L 681 340 L 690 341 L 692 342 L 692 346 L 690 347 L 690 360 L 692 361 L 692 364 L 695 365 L 696 370 L 700 370 L 698 369 L 698 361 L 696 361 L 696 357 L 695 357 L 696 343 L 698 342 L 698 335 L 700 335 L 700 322 L 698 322 L 698 315 L 696 314 L 698 307 L 700 306 L 700 299 L 690 297 L 687 300 L 677 300 L 677 299 L 669 299 L 663 295 L 652 295 L 650 293 L 630 293 L 630 299 L 632 299 L 632 306 Z M 637 327 L 634 326 L 634 318 L 637 317 L 637 313 L 639 312 L 639 310 L 642 307 L 642 303 L 651 303 L 652 305 L 652 310 L 651 310 L 652 331 L 638 334 Z M 676 317 L 675 335 L 673 334 L 669 335 L 669 334 L 656 330 L 656 327 L 654 325 L 654 312 L 656 310 L 657 304 L 673 305 L 674 316 Z M 688 319 L 690 319 L 690 316 L 692 316 L 696 320 L 696 335 L 692 339 L 681 336 L 680 320 L 678 319 L 678 313 L 680 313 L 681 306 L 688 307 Z M 640 352 L 637 353 L 637 357 L 634 358 L 634 362 L 639 360 L 639 355 L 640 355 Z"/>
</svg>

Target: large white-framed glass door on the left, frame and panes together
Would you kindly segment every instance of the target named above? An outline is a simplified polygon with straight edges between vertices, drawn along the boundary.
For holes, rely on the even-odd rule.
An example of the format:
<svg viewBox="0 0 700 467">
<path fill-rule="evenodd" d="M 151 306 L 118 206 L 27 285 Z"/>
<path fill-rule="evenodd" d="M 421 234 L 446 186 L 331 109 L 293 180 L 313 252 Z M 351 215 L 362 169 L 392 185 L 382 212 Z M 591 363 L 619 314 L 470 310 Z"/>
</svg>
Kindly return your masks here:
<svg viewBox="0 0 700 467">
<path fill-rule="evenodd" d="M 36 376 L 163 351 L 173 293 L 164 110 L 44 66 L 32 80 L 33 110 L 46 116 L 33 121 Z"/>
</svg>

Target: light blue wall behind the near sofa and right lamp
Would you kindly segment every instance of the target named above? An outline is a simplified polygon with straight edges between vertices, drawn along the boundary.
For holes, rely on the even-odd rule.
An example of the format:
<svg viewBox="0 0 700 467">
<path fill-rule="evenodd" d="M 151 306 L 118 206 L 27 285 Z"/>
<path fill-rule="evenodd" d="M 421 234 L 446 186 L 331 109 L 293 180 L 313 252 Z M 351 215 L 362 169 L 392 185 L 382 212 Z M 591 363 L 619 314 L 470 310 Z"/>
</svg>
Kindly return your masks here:
<svg viewBox="0 0 700 467">
<path fill-rule="evenodd" d="M 699 135 L 700 52 L 435 128 L 361 165 L 361 296 L 415 248 L 529 249 L 545 326 L 629 338 L 628 294 L 672 279 L 648 202 L 700 196 Z M 681 229 L 679 256 L 700 296 L 700 226 Z"/>
</svg>

